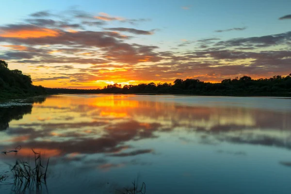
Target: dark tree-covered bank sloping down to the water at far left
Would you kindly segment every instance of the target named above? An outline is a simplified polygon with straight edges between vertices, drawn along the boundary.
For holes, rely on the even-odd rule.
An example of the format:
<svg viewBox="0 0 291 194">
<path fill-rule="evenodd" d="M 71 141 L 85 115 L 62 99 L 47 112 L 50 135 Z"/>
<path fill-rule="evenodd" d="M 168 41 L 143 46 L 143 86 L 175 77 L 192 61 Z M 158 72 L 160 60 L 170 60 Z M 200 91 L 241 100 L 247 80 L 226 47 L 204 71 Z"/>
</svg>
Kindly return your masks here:
<svg viewBox="0 0 291 194">
<path fill-rule="evenodd" d="M 42 86 L 32 85 L 32 79 L 15 69 L 10 70 L 5 61 L 0 60 L 0 100 L 23 98 L 46 94 Z"/>
</svg>

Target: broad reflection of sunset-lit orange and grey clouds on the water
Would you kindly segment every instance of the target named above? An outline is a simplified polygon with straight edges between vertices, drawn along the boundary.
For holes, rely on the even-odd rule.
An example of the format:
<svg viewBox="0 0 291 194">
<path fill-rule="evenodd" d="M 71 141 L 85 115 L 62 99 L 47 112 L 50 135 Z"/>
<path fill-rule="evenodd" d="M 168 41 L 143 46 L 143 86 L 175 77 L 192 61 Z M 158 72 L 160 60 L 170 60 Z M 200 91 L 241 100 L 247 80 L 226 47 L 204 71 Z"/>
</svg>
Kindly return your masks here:
<svg viewBox="0 0 291 194">
<path fill-rule="evenodd" d="M 63 162 L 84 162 L 86 160 L 81 159 L 84 155 L 139 157 L 152 153 L 155 147 L 135 148 L 137 142 L 153 138 L 159 141 L 163 134 L 180 131 L 199 138 L 195 142 L 190 135 L 178 136 L 183 142 L 208 145 L 228 142 L 291 149 L 289 111 L 188 106 L 132 97 L 89 96 L 86 101 L 78 96 L 49 97 L 43 104 L 34 104 L 33 112 L 32 106 L 22 107 L 22 112 L 7 108 L 10 115 L 0 116 L 1 126 L 7 128 L 2 132 L 4 141 L 0 147 L 21 145 L 19 154 L 22 156 L 30 155 L 34 148 L 50 157 L 62 156 Z M 32 114 L 24 121 L 21 120 L 24 113 Z M 39 119 L 48 117 L 50 119 Z M 77 153 L 82 154 L 81 158 L 75 157 Z M 74 157 L 67 157 L 72 155 Z M 107 159 L 95 162 L 99 169 L 125 165 Z"/>
</svg>

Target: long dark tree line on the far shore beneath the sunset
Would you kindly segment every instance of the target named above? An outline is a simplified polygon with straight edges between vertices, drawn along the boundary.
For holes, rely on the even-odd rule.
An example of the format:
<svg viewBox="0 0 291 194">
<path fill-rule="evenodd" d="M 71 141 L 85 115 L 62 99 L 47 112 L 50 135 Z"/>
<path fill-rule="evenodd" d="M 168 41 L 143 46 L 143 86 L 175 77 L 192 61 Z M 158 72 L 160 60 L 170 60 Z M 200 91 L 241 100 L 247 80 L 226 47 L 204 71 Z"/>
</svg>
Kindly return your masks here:
<svg viewBox="0 0 291 194">
<path fill-rule="evenodd" d="M 114 83 L 103 89 L 47 88 L 49 94 L 94 93 L 94 94 L 189 94 L 222 96 L 291 96 L 291 74 L 273 76 L 269 79 L 253 80 L 249 76 L 226 79 L 220 83 L 204 82 L 196 79 L 177 79 L 172 83 L 141 83 L 125 85 Z"/>
</svg>

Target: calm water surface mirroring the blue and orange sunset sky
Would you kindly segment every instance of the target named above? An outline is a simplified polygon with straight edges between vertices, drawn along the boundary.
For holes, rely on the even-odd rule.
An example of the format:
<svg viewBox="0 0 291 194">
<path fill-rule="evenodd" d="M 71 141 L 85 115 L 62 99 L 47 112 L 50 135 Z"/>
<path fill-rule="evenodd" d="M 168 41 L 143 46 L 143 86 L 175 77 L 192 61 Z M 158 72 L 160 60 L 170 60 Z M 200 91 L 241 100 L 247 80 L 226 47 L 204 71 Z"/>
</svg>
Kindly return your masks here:
<svg viewBox="0 0 291 194">
<path fill-rule="evenodd" d="M 0 156 L 0 175 L 5 163 L 32 156 L 33 148 L 50 157 L 49 193 L 116 193 L 137 177 L 147 194 L 291 191 L 290 99 L 58 95 L 32 101 L 0 107 L 1 150 L 22 146 L 17 155 Z M 0 190 L 10 193 L 10 185 Z"/>
</svg>

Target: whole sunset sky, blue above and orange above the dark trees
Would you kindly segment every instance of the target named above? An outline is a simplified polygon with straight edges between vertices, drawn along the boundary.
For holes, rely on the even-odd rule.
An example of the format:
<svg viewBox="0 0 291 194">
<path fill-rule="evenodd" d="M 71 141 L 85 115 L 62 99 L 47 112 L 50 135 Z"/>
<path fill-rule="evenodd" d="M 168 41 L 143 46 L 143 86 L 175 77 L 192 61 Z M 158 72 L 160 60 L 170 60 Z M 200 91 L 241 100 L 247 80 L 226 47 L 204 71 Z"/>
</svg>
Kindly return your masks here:
<svg viewBox="0 0 291 194">
<path fill-rule="evenodd" d="M 0 0 L 0 60 L 34 85 L 291 73 L 290 0 Z"/>
</svg>

